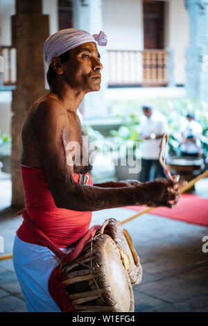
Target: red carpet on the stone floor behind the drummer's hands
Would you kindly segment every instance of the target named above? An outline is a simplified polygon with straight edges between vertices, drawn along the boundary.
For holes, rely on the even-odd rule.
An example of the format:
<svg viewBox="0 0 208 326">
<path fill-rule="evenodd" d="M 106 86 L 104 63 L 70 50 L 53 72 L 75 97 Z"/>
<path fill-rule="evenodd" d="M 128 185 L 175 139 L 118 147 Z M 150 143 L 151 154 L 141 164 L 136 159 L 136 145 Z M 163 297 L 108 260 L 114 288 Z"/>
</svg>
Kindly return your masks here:
<svg viewBox="0 0 208 326">
<path fill-rule="evenodd" d="M 128 206 L 128 209 L 141 211 L 146 206 Z M 157 207 L 148 214 L 160 215 L 188 223 L 208 226 L 208 199 L 192 194 L 182 194 L 178 207 Z"/>
</svg>

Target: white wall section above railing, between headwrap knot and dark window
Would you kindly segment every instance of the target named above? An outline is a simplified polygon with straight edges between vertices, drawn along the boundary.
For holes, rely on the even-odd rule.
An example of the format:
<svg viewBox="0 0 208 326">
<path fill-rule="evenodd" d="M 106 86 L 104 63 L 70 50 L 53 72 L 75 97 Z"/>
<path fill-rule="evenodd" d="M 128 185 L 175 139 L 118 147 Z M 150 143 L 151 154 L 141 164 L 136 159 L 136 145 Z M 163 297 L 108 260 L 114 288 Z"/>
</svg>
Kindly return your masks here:
<svg viewBox="0 0 208 326">
<path fill-rule="evenodd" d="M 107 49 L 142 50 L 143 10 L 141 0 L 103 0 L 103 31 Z"/>
</svg>

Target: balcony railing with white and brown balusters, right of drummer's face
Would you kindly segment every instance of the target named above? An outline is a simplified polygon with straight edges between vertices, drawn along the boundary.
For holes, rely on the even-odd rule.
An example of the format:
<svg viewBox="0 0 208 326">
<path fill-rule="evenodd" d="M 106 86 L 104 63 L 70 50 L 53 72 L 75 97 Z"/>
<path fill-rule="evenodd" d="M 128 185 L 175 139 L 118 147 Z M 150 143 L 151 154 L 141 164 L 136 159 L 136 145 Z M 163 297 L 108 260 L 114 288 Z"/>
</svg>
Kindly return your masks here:
<svg viewBox="0 0 208 326">
<path fill-rule="evenodd" d="M 165 50 L 108 50 L 108 85 L 167 85 L 167 58 Z"/>
</svg>

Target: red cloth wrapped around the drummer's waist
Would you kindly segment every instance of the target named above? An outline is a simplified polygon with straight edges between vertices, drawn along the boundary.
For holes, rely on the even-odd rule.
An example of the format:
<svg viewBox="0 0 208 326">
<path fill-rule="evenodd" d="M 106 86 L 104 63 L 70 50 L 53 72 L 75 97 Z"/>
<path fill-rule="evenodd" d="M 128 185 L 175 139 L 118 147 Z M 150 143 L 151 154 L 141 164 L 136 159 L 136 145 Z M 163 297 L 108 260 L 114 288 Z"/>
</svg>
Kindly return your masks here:
<svg viewBox="0 0 208 326">
<path fill-rule="evenodd" d="M 21 166 L 21 177 L 28 216 L 58 248 L 69 247 L 87 233 L 92 212 L 56 207 L 41 168 Z M 78 182 L 78 173 L 73 173 L 73 180 Z M 90 175 L 88 185 L 92 185 Z M 34 237 L 25 221 L 17 230 L 17 236 L 22 241 L 40 244 L 40 240 Z"/>
</svg>

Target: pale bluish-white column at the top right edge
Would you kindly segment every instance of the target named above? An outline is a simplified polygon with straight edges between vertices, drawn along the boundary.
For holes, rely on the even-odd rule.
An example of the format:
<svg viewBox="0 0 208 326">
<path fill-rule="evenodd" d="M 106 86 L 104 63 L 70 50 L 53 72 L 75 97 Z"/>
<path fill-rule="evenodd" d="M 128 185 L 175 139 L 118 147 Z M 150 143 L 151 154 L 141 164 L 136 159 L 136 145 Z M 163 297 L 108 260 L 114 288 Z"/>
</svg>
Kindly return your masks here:
<svg viewBox="0 0 208 326">
<path fill-rule="evenodd" d="M 187 94 L 208 103 L 208 0 L 185 0 L 185 6 L 189 12 Z"/>
</svg>

